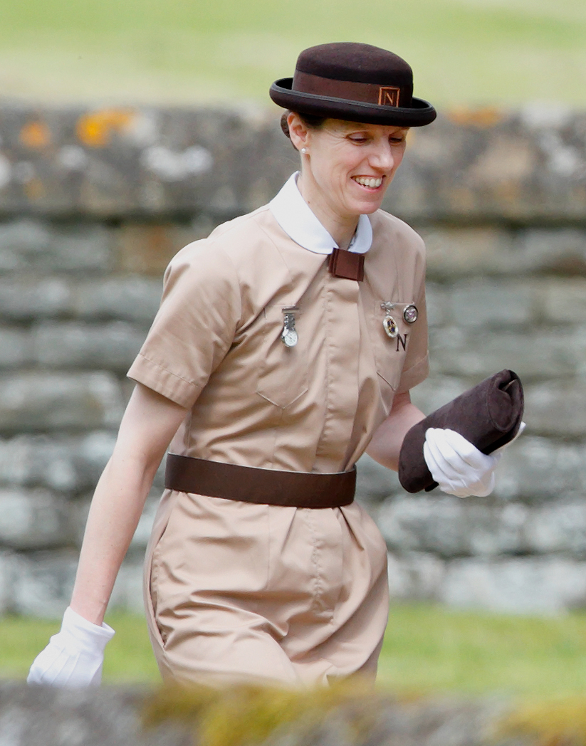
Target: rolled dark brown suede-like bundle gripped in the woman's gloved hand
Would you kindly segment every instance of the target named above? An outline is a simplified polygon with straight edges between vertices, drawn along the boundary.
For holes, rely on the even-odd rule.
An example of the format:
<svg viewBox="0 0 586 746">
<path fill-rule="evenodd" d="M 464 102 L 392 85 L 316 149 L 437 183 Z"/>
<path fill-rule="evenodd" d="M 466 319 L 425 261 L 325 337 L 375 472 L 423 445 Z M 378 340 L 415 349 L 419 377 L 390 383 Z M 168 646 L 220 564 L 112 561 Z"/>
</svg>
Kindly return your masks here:
<svg viewBox="0 0 586 746">
<path fill-rule="evenodd" d="M 399 482 L 407 492 L 437 487 L 423 458 L 428 427 L 447 427 L 490 454 L 514 439 L 523 419 L 523 386 L 502 370 L 473 386 L 411 427 L 399 454 Z"/>
</svg>

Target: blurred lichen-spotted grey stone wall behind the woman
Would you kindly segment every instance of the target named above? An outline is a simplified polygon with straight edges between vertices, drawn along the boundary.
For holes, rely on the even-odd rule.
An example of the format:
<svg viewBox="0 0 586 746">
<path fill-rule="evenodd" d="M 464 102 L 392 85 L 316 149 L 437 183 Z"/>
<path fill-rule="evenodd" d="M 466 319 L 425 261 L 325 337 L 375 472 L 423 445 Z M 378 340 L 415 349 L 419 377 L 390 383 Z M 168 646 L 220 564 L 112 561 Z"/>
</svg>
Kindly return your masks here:
<svg viewBox="0 0 586 746">
<path fill-rule="evenodd" d="M 413 131 L 386 207 L 428 246 L 430 411 L 503 367 L 528 428 L 490 498 L 361 500 L 393 598 L 586 606 L 586 115 L 458 111 Z M 0 612 L 58 616 L 169 257 L 295 168 L 274 111 L 0 107 Z M 139 609 L 160 474 L 116 585 Z"/>
</svg>

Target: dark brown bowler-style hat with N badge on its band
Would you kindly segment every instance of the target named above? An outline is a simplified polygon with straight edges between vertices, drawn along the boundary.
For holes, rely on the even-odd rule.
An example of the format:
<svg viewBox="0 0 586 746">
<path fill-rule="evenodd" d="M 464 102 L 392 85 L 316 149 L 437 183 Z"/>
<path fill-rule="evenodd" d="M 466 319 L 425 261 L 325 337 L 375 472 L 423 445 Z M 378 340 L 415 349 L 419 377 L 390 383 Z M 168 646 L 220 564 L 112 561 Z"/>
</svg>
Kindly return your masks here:
<svg viewBox="0 0 586 746">
<path fill-rule="evenodd" d="M 315 116 L 396 127 L 422 127 L 437 116 L 414 98 L 411 67 L 391 51 L 352 42 L 302 51 L 293 78 L 270 87 L 275 104 Z"/>
</svg>

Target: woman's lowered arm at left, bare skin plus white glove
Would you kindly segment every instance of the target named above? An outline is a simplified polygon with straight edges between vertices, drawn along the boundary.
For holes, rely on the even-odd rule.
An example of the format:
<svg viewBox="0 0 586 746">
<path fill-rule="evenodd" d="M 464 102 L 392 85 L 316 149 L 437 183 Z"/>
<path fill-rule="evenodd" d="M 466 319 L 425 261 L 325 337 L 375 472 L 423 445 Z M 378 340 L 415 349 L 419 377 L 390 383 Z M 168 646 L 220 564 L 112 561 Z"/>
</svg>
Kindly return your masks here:
<svg viewBox="0 0 586 746">
<path fill-rule="evenodd" d="M 72 606 L 61 631 L 31 665 L 29 684 L 99 685 L 104 648 L 114 630 L 102 619 L 152 480 L 187 410 L 140 383 L 122 418 L 113 454 L 90 507 Z"/>
</svg>

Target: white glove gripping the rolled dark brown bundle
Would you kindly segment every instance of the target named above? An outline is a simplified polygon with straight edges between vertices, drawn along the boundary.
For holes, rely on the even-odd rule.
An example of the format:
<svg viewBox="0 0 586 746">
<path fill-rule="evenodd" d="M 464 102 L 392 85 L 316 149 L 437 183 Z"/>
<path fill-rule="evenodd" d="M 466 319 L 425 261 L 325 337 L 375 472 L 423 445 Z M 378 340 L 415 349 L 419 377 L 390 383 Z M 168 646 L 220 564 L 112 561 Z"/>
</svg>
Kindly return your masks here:
<svg viewBox="0 0 586 746">
<path fill-rule="evenodd" d="M 483 454 L 470 441 L 442 427 L 429 427 L 423 457 L 431 476 L 448 495 L 485 497 L 494 489 L 501 453 Z"/>
</svg>

